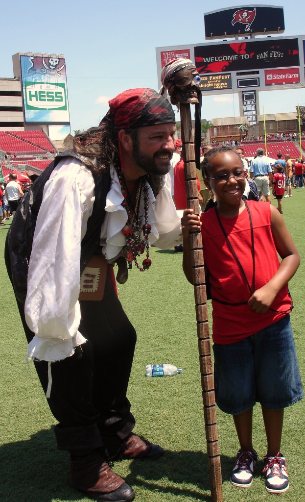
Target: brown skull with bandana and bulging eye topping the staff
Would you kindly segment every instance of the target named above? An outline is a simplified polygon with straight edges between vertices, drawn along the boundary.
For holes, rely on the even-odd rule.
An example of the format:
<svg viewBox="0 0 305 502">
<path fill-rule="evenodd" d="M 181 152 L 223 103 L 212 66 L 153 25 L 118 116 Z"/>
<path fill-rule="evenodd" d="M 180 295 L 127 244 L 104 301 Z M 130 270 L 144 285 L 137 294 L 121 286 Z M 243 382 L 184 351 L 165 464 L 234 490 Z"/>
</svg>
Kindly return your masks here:
<svg viewBox="0 0 305 502">
<path fill-rule="evenodd" d="M 178 58 L 168 63 L 162 70 L 161 81 L 172 104 L 199 102 L 200 76 L 190 59 Z"/>
</svg>

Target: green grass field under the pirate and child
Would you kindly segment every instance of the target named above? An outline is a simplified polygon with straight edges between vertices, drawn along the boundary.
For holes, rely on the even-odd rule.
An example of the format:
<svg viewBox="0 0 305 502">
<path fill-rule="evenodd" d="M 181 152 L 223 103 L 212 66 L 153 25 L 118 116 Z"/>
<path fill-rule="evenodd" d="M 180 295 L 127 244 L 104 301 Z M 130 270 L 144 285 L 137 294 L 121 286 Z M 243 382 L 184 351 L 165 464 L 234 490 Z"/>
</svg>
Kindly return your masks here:
<svg viewBox="0 0 305 502">
<path fill-rule="evenodd" d="M 283 217 L 304 257 L 305 189 L 283 199 Z M 275 201 L 272 201 L 275 203 Z M 0 227 L 1 253 L 1 437 L 0 499 L 3 502 L 66 502 L 88 499 L 69 486 L 69 456 L 56 448 L 55 420 L 46 403 L 35 368 L 24 362 L 26 339 L 4 265 L 9 221 Z M 157 461 L 117 462 L 114 470 L 130 484 L 137 502 L 210 502 L 206 439 L 201 395 L 193 288 L 182 272 L 182 255 L 173 249 L 151 249 L 153 265 L 132 270 L 119 286 L 120 300 L 137 331 L 128 397 L 137 420 L 135 432 L 161 444 Z M 289 284 L 298 360 L 305 384 L 304 263 Z M 170 362 L 181 375 L 149 379 L 147 363 Z M 290 489 L 281 500 L 305 501 L 305 401 L 285 411 L 282 452 L 288 462 Z M 238 449 L 230 416 L 217 410 L 225 502 L 261 502 L 276 497 L 260 477 L 266 441 L 260 408 L 254 409 L 254 447 L 259 461 L 250 488 L 233 487 L 229 476 Z"/>
</svg>

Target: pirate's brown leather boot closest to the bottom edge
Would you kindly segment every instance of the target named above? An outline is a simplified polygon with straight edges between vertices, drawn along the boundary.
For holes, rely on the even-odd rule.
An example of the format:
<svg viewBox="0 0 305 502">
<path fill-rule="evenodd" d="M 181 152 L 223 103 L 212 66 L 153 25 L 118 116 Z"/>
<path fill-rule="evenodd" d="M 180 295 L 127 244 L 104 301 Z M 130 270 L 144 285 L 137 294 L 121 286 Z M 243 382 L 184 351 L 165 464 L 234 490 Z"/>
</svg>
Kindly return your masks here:
<svg viewBox="0 0 305 502">
<path fill-rule="evenodd" d="M 135 495 L 133 489 L 112 472 L 99 449 L 81 456 L 71 454 L 70 484 L 98 502 L 130 502 Z"/>
</svg>

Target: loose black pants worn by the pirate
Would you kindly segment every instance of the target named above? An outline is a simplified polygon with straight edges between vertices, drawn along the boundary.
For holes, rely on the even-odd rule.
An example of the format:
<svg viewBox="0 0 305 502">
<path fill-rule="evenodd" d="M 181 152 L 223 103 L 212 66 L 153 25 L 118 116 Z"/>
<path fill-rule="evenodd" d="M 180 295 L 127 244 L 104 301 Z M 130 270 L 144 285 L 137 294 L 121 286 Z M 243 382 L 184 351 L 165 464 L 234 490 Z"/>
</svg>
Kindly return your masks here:
<svg viewBox="0 0 305 502">
<path fill-rule="evenodd" d="M 48 404 L 59 421 L 55 434 L 60 449 L 105 446 L 113 455 L 135 424 L 126 391 L 136 334 L 108 279 L 103 300 L 80 303 L 79 331 L 87 342 L 71 357 L 51 363 Z M 19 308 L 29 342 L 34 333 L 25 322 L 23 306 Z M 34 364 L 46 393 L 48 362 Z"/>
</svg>

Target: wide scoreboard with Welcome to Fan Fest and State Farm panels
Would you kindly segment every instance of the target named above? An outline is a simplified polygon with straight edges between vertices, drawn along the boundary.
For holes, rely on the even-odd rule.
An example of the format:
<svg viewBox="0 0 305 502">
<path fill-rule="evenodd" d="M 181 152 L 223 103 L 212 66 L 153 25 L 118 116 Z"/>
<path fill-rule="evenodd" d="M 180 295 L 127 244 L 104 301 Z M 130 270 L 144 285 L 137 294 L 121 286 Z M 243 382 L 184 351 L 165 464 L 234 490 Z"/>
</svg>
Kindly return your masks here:
<svg viewBox="0 0 305 502">
<path fill-rule="evenodd" d="M 304 50 L 305 35 L 159 47 L 158 85 L 163 66 L 185 54 L 195 63 L 206 95 L 305 87 Z"/>
</svg>

